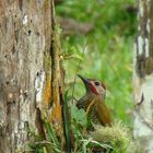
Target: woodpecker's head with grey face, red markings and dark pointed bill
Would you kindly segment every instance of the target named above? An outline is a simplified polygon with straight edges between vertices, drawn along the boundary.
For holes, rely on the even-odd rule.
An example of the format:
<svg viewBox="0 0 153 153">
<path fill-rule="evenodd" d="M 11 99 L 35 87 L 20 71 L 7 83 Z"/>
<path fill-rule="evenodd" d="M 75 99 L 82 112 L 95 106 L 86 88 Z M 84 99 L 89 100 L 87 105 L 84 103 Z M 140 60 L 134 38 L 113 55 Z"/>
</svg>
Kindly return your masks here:
<svg viewBox="0 0 153 153">
<path fill-rule="evenodd" d="M 78 74 L 78 76 L 83 81 L 85 89 L 86 89 L 86 94 L 95 94 L 95 95 L 101 95 L 102 97 L 105 98 L 106 95 L 106 87 L 105 84 L 98 80 L 94 79 L 85 79 L 82 75 Z"/>
</svg>

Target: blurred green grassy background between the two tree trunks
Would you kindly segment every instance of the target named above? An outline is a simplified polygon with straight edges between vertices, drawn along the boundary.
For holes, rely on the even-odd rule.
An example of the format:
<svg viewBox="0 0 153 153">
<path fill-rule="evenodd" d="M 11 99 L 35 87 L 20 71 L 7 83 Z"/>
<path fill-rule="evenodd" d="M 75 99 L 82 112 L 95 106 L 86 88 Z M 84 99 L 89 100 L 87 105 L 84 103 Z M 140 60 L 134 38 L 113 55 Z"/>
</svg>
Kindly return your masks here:
<svg viewBox="0 0 153 153">
<path fill-rule="evenodd" d="M 76 73 L 105 82 L 106 103 L 116 119 L 132 123 L 134 0 L 61 0 L 56 4 L 66 83 L 71 95 Z M 84 49 L 85 48 L 85 49 Z M 78 70 L 79 68 L 79 70 Z M 76 78 L 74 97 L 84 94 Z"/>
</svg>

